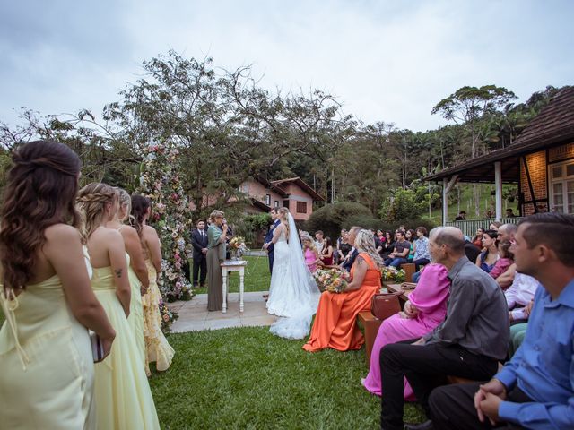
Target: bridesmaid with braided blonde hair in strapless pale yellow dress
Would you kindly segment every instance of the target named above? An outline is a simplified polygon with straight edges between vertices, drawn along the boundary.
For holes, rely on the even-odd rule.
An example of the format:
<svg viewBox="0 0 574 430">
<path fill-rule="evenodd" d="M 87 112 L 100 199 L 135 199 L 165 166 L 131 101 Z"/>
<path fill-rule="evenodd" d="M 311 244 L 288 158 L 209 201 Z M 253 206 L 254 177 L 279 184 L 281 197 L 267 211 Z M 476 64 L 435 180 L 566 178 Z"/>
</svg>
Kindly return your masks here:
<svg viewBox="0 0 574 430">
<path fill-rule="evenodd" d="M 98 428 L 159 429 L 144 363 L 127 323 L 131 287 L 126 247 L 117 230 L 105 227 L 117 211 L 117 194 L 109 185 L 92 183 L 80 190 L 77 202 L 84 218 L 81 233 L 93 267 L 91 288 L 116 330 L 109 357 L 96 365 Z"/>
</svg>

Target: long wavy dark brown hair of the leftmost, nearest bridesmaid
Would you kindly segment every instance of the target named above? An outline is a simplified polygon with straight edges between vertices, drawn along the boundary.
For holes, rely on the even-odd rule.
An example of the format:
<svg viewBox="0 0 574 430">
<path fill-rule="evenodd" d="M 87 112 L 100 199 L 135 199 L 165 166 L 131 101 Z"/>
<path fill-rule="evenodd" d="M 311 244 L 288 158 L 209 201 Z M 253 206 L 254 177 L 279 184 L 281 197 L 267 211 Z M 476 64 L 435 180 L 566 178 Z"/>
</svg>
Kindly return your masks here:
<svg viewBox="0 0 574 430">
<path fill-rule="evenodd" d="M 0 260 L 4 286 L 24 288 L 46 243 L 46 228 L 80 225 L 74 198 L 82 163 L 73 150 L 51 141 L 23 145 L 14 152 L 13 163 L 4 188 Z"/>
</svg>

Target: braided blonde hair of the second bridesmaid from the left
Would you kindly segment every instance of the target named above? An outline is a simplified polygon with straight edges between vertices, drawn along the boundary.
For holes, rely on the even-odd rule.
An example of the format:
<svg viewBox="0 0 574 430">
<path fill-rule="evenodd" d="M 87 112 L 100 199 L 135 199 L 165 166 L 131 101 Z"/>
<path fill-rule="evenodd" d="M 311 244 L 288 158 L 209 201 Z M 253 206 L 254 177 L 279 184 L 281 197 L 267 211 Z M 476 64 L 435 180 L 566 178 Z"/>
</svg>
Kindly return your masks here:
<svg viewBox="0 0 574 430">
<path fill-rule="evenodd" d="M 106 209 L 106 203 L 117 202 L 118 193 L 113 186 L 92 182 L 84 186 L 78 193 L 78 209 L 82 213 L 82 227 L 80 234 L 83 243 L 88 242 L 91 233 L 100 227 L 101 217 Z"/>
</svg>

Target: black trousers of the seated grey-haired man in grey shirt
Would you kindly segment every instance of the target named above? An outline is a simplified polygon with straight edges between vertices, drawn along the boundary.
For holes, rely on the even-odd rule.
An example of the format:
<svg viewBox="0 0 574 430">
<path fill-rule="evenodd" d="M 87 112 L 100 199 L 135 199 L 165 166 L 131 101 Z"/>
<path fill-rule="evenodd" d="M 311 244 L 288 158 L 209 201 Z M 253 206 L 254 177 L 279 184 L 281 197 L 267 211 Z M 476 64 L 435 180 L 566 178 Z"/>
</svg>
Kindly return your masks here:
<svg viewBox="0 0 574 430">
<path fill-rule="evenodd" d="M 498 370 L 496 359 L 473 354 L 458 345 L 410 345 L 413 341 L 390 344 L 380 352 L 383 391 L 380 419 L 385 430 L 403 429 L 404 377 L 430 417 L 431 391 L 445 384 L 447 375 L 483 381 Z"/>
</svg>

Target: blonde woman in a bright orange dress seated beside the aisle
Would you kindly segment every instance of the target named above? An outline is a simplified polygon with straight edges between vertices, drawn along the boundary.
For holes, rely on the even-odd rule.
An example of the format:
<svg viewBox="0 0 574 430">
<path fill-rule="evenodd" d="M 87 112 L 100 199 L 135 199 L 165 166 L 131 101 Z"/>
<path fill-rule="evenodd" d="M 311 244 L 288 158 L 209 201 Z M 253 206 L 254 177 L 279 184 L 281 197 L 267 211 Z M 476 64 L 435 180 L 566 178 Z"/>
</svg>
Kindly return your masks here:
<svg viewBox="0 0 574 430">
<path fill-rule="evenodd" d="M 324 348 L 348 351 L 360 349 L 364 343 L 355 321 L 357 314 L 370 309 L 371 298 L 380 290 L 383 262 L 370 230 L 360 230 L 354 245 L 359 255 L 352 265 L 352 281 L 343 293 L 325 291 L 321 294 L 311 336 L 303 345 L 306 351 Z"/>
</svg>

